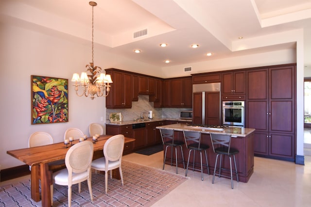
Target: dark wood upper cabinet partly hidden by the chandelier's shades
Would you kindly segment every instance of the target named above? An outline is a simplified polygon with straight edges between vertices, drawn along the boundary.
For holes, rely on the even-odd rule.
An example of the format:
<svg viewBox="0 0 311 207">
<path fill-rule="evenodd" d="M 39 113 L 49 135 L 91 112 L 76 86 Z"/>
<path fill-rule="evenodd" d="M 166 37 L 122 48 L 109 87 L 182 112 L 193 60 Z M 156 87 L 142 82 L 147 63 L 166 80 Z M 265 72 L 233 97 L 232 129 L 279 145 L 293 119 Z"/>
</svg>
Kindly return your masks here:
<svg viewBox="0 0 311 207">
<path fill-rule="evenodd" d="M 105 69 L 110 74 L 113 83 L 109 95 L 106 97 L 107 109 L 132 108 L 132 75 L 110 68 Z"/>
</svg>

